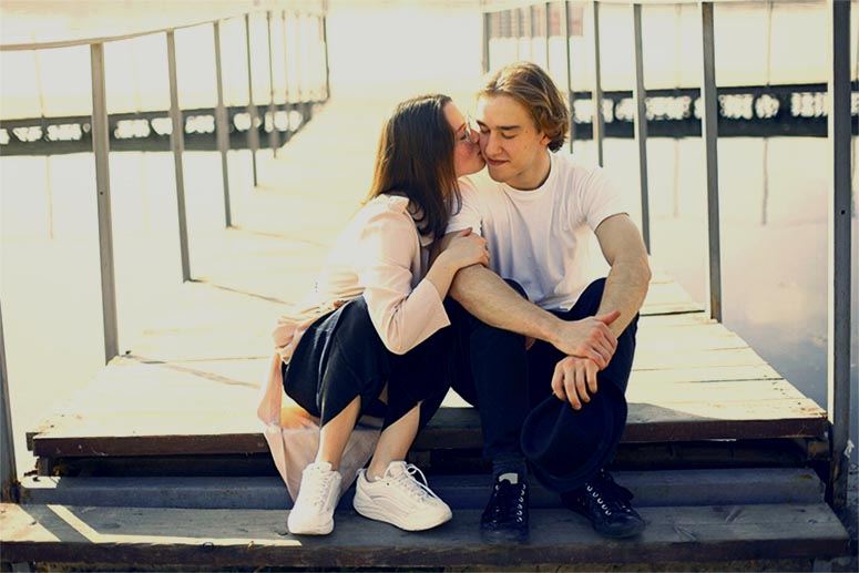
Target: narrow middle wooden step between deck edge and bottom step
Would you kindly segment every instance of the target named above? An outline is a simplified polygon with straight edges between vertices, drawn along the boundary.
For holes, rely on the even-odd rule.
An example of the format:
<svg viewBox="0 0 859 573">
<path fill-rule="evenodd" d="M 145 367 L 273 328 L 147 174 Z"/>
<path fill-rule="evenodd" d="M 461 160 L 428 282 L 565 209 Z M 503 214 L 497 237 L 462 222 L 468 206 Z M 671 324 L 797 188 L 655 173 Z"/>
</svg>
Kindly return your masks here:
<svg viewBox="0 0 859 573">
<path fill-rule="evenodd" d="M 744 503 L 818 503 L 824 484 L 809 469 L 663 470 L 614 472 L 635 494 L 637 508 Z M 432 490 L 453 509 L 482 509 L 491 475 L 429 475 Z M 29 477 L 23 503 L 185 509 L 289 509 L 279 477 Z M 351 493 L 339 508 L 349 509 Z M 531 508 L 560 508 L 558 494 L 532 481 Z"/>
</svg>

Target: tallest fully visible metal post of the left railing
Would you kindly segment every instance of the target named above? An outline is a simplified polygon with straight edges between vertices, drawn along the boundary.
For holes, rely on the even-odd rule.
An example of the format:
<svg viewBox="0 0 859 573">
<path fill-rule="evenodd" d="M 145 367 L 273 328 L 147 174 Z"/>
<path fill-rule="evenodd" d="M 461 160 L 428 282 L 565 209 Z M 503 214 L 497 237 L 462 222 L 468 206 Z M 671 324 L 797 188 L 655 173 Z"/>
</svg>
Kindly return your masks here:
<svg viewBox="0 0 859 573">
<path fill-rule="evenodd" d="M 108 98 L 104 88 L 104 44 L 90 45 L 90 61 L 92 64 L 92 151 L 95 155 L 95 193 L 99 206 L 104 362 L 108 364 L 120 354 L 120 350 L 116 328 L 116 282 L 113 272 L 113 223 L 111 217 L 111 177 L 108 162 L 110 139 L 108 135 Z"/>
</svg>

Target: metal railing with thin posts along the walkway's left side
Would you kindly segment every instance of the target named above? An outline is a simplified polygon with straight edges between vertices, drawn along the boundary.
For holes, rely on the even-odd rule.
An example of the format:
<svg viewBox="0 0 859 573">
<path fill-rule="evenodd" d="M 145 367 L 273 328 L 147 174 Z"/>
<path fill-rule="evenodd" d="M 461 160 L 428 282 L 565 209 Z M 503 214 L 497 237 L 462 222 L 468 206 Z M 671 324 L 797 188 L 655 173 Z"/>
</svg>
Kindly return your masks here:
<svg viewBox="0 0 859 573">
<path fill-rule="evenodd" d="M 248 83 L 248 105 L 247 111 L 250 114 L 252 123 L 247 130 L 247 135 L 250 142 L 250 155 L 253 157 L 253 178 L 254 185 L 257 184 L 257 166 L 256 166 L 256 152 L 259 149 L 259 129 L 264 129 L 265 123 L 257 116 L 257 106 L 254 101 L 253 92 L 253 74 L 252 74 L 252 49 L 250 49 L 250 18 L 252 16 L 264 13 L 266 23 L 268 27 L 268 81 L 272 85 L 268 102 L 268 114 L 270 116 L 272 130 L 269 132 L 269 145 L 272 150 L 276 152 L 280 142 L 277 136 L 276 129 L 274 127 L 274 114 L 277 110 L 275 103 L 275 89 L 274 89 L 274 53 L 275 48 L 272 39 L 272 22 L 279 13 L 284 22 L 284 66 L 285 75 L 288 70 L 288 58 L 286 54 L 286 21 L 287 18 L 293 17 L 298 21 L 306 18 L 317 19 L 319 29 L 323 34 L 323 64 L 325 65 L 325 100 L 330 95 L 329 93 L 329 70 L 328 70 L 328 44 L 326 37 L 326 9 L 325 1 L 318 2 L 316 9 L 313 9 L 313 2 L 307 1 L 275 1 L 270 0 L 266 2 L 265 10 L 259 12 L 244 12 L 236 14 L 237 18 L 244 18 L 245 22 L 245 39 L 247 49 L 247 83 Z M 231 17 L 233 18 L 233 17 Z M 112 217 L 111 217 L 111 177 L 109 170 L 109 154 L 110 154 L 110 139 L 109 139 L 109 116 L 108 116 L 108 94 L 105 90 L 105 68 L 104 68 L 104 47 L 105 43 L 119 40 L 127 40 L 131 38 L 137 38 L 150 34 L 164 33 L 166 37 L 167 47 L 167 73 L 170 79 L 170 116 L 172 121 L 171 131 L 171 149 L 173 151 L 174 158 L 174 173 L 176 184 L 176 202 L 178 207 L 178 229 L 180 229 L 180 250 L 182 260 L 182 279 L 183 282 L 191 279 L 191 260 L 188 253 L 188 236 L 187 236 L 187 217 L 185 213 L 185 185 L 184 185 L 184 166 L 183 166 L 183 152 L 184 152 L 184 133 L 185 123 L 183 113 L 178 103 L 178 79 L 176 71 L 176 47 L 175 47 L 175 31 L 184 28 L 192 28 L 196 25 L 212 25 L 214 31 L 214 52 L 215 52 L 215 75 L 217 86 L 217 105 L 215 109 L 216 117 L 216 136 L 217 149 L 222 158 L 222 178 L 224 186 L 224 206 L 225 206 L 225 225 L 232 226 L 232 216 L 229 208 L 229 182 L 228 182 L 228 167 L 227 167 L 227 151 L 229 150 L 229 130 L 227 124 L 227 112 L 224 104 L 224 85 L 222 75 L 222 58 L 221 58 L 221 23 L 228 18 L 218 18 L 208 21 L 196 21 L 191 24 L 182 24 L 175 27 L 158 28 L 152 30 L 136 31 L 130 34 L 122 34 L 115 37 L 98 37 L 90 39 L 74 39 L 74 40 L 60 40 L 44 43 L 31 43 L 31 44 L 3 44 L 0 45 L 2 51 L 21 51 L 21 50 L 41 50 L 51 48 L 65 48 L 72 45 L 89 45 L 90 47 L 90 64 L 91 64 L 91 79 L 92 79 L 92 151 L 95 158 L 95 184 L 96 184 L 96 204 L 99 216 L 99 253 L 101 262 L 101 291 L 102 291 L 102 316 L 103 316 L 103 330 L 104 330 L 104 359 L 109 362 L 113 357 L 119 355 L 119 336 L 117 336 L 117 323 L 116 323 L 116 290 L 114 279 L 114 254 L 113 254 L 113 231 L 112 231 Z M 297 66 L 296 71 L 298 86 L 297 98 L 300 106 L 308 106 L 309 103 L 303 100 L 300 93 L 300 73 L 301 70 Z M 289 82 L 285 82 L 286 93 L 285 95 L 285 109 L 289 111 Z M 2 392 L 0 393 L 0 439 L 2 443 L 2 450 L 0 451 L 0 470 L 2 471 L 2 500 L 10 501 L 17 497 L 16 487 L 17 483 L 17 470 L 14 460 L 14 443 L 12 440 L 12 423 L 10 416 L 9 391 L 8 391 L 8 376 L 7 376 L 7 362 L 6 362 L 6 346 L 2 339 L 2 318 L 0 316 L 0 386 Z"/>
</svg>

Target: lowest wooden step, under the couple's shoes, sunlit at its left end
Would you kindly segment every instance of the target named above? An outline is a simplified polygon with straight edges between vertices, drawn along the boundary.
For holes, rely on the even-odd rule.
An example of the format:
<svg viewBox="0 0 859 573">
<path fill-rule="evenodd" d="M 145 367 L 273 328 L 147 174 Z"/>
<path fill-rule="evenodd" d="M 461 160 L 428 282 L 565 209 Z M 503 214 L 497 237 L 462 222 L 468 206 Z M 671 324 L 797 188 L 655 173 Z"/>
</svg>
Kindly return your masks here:
<svg viewBox="0 0 859 573">
<path fill-rule="evenodd" d="M 565 510 L 531 512 L 531 540 L 491 545 L 480 511 L 460 510 L 436 530 L 412 534 L 349 513 L 333 534 L 294 538 L 285 512 L 65 505 L 0 507 L 7 561 L 263 566 L 466 566 L 538 563 L 830 557 L 848 535 L 824 503 L 643 508 L 648 528 L 610 541 Z"/>
</svg>

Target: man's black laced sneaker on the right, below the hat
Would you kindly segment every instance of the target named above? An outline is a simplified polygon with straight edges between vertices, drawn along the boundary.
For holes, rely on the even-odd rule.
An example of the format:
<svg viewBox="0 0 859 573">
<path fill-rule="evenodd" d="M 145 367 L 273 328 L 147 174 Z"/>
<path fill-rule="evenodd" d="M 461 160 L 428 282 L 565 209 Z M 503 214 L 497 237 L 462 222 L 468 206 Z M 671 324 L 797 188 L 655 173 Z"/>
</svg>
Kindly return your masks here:
<svg viewBox="0 0 859 573">
<path fill-rule="evenodd" d="M 633 494 L 605 470 L 582 488 L 562 493 L 561 501 L 567 509 L 581 513 L 591 521 L 594 530 L 606 538 L 631 538 L 644 531 L 644 520 L 632 509 Z"/>
</svg>

